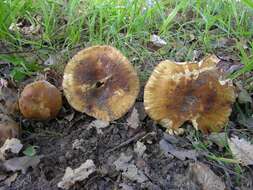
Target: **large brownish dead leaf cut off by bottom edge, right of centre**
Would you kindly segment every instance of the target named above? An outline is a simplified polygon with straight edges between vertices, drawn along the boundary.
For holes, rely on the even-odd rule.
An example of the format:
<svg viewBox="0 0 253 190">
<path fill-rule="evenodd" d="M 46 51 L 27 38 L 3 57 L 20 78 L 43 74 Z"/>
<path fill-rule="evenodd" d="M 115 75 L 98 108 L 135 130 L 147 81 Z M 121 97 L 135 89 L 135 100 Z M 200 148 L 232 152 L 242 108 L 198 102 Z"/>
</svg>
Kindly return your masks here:
<svg viewBox="0 0 253 190">
<path fill-rule="evenodd" d="M 190 177 L 197 184 L 201 185 L 200 189 L 204 190 L 224 190 L 226 186 L 208 166 L 203 163 L 190 164 Z"/>
</svg>

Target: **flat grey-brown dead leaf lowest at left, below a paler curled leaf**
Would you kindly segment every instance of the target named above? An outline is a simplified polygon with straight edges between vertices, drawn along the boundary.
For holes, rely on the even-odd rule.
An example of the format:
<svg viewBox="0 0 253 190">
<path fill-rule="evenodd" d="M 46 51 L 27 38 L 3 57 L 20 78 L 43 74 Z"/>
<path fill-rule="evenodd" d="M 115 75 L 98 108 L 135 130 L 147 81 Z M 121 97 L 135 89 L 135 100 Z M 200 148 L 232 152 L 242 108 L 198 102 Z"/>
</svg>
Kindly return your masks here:
<svg viewBox="0 0 253 190">
<path fill-rule="evenodd" d="M 4 161 L 3 166 L 7 171 L 15 172 L 21 170 L 21 172 L 25 174 L 28 168 L 35 168 L 39 164 L 41 158 L 42 156 L 12 158 Z"/>
</svg>

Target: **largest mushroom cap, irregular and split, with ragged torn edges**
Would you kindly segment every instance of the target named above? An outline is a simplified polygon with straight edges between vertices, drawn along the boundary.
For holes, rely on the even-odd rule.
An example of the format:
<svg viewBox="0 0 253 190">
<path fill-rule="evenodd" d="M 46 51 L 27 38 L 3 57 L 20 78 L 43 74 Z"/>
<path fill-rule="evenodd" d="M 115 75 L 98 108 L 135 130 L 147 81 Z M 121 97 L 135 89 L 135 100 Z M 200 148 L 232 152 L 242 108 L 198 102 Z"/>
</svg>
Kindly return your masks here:
<svg viewBox="0 0 253 190">
<path fill-rule="evenodd" d="M 199 63 L 161 62 L 144 90 L 148 115 L 168 131 L 178 131 L 186 121 L 204 133 L 220 131 L 228 122 L 235 101 L 231 81 L 221 80 L 210 55 Z"/>
</svg>

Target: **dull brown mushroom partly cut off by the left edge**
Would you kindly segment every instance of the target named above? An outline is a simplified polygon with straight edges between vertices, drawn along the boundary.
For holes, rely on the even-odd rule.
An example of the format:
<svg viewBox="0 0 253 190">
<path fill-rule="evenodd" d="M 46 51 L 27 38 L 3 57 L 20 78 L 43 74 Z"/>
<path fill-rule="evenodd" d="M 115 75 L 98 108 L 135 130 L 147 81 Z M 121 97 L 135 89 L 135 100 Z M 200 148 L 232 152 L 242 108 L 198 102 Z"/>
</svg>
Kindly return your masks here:
<svg viewBox="0 0 253 190">
<path fill-rule="evenodd" d="M 19 125 L 10 117 L 0 114 L 0 146 L 4 144 L 6 139 L 16 138 L 20 134 Z"/>
</svg>

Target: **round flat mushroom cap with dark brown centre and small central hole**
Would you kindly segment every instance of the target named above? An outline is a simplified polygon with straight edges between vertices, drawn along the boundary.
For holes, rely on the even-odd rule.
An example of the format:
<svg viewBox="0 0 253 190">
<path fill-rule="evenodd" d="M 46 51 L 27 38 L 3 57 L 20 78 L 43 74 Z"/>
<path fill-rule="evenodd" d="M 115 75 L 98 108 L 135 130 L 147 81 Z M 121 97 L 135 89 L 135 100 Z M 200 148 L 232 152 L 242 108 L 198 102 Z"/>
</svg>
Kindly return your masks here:
<svg viewBox="0 0 253 190">
<path fill-rule="evenodd" d="M 78 52 L 67 64 L 63 90 L 77 111 L 104 121 L 123 116 L 139 93 L 133 66 L 115 48 L 93 46 Z"/>
</svg>

